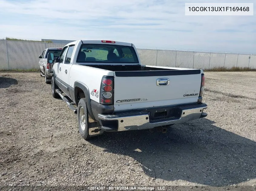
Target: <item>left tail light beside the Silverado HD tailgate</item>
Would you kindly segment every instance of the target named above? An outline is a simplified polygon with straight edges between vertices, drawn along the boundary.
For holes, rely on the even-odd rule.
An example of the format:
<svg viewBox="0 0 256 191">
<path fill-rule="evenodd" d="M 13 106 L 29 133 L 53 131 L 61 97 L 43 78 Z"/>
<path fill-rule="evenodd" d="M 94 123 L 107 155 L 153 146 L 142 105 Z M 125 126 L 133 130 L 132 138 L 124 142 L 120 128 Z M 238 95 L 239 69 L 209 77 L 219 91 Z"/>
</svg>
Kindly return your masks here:
<svg viewBox="0 0 256 191">
<path fill-rule="evenodd" d="M 113 87 L 114 79 L 112 76 L 103 76 L 101 80 L 100 103 L 111 105 L 114 102 Z"/>
</svg>

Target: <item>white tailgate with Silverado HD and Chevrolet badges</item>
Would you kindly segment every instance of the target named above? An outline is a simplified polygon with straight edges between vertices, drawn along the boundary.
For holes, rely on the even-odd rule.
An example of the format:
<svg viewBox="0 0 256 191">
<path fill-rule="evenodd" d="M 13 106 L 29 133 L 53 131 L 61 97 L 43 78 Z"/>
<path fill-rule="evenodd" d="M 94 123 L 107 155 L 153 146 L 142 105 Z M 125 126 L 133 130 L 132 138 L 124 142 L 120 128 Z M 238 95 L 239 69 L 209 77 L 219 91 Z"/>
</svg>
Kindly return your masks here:
<svg viewBox="0 0 256 191">
<path fill-rule="evenodd" d="M 197 102 L 201 87 L 201 70 L 192 69 L 114 72 L 114 78 L 115 111 Z"/>
</svg>

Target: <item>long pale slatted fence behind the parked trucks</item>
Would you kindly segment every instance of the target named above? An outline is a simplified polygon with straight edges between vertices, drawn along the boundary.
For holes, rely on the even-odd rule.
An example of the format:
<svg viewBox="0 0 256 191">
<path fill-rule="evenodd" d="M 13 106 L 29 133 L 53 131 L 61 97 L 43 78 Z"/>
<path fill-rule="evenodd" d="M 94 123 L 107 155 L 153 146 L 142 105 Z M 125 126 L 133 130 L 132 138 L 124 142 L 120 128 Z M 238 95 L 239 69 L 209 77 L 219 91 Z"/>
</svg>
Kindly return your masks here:
<svg viewBox="0 0 256 191">
<path fill-rule="evenodd" d="M 0 70 L 39 68 L 38 56 L 46 48 L 62 48 L 65 44 L 0 40 Z M 249 67 L 256 69 L 256 55 L 204 53 L 176 50 L 137 49 L 143 65 L 178 68 L 214 69 Z"/>
</svg>

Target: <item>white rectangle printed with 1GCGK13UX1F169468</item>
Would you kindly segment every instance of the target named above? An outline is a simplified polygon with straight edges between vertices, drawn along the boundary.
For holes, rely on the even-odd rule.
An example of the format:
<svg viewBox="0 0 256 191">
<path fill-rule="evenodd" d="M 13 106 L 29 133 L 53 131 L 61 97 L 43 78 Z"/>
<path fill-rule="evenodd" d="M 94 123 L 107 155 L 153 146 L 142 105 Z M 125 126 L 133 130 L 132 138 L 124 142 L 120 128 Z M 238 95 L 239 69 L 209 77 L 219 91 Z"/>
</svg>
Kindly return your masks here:
<svg viewBox="0 0 256 191">
<path fill-rule="evenodd" d="M 253 15 L 253 3 L 185 3 L 185 15 Z"/>
</svg>

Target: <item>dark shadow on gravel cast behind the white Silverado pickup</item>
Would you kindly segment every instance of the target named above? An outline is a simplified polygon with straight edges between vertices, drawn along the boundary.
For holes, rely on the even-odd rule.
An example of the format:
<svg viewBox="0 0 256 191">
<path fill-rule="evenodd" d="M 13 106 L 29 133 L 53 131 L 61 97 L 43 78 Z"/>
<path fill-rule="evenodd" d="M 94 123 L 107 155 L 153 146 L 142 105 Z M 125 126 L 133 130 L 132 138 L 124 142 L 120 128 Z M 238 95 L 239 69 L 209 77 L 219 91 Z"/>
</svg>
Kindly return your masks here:
<svg viewBox="0 0 256 191">
<path fill-rule="evenodd" d="M 169 128 L 164 134 L 148 130 L 107 133 L 90 142 L 134 158 L 152 178 L 209 186 L 256 178 L 256 142 L 206 118 Z"/>
</svg>

